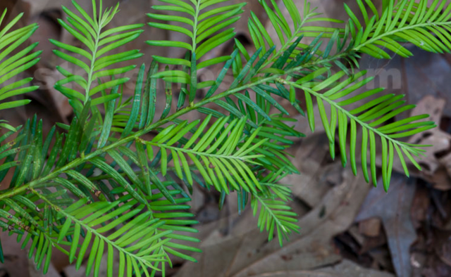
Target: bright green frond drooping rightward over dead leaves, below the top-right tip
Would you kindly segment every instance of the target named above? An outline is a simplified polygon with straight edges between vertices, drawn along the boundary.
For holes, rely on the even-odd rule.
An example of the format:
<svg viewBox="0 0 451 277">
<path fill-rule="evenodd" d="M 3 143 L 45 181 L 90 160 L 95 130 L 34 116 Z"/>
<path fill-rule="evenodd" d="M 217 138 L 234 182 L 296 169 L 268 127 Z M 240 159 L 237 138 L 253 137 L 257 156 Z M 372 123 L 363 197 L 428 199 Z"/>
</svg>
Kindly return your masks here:
<svg viewBox="0 0 451 277">
<path fill-rule="evenodd" d="M 323 70 L 312 72 L 307 77 L 297 82 L 288 82 L 291 86 L 302 89 L 307 104 L 307 117 L 311 131 L 315 129 L 314 102 L 316 98 L 321 121 L 330 143 L 330 154 L 335 157 L 335 129 L 338 127 L 338 141 L 340 142 L 340 153 L 342 164 L 347 163 L 347 136 L 350 136 L 350 163 L 352 171 L 357 174 L 357 125 L 362 127 L 362 170 L 366 181 L 369 181 L 367 162 L 370 162 L 371 177 L 374 184 L 377 183 L 376 176 L 376 138 L 382 143 L 382 177 L 385 190 L 390 185 L 390 176 L 393 169 L 393 159 L 397 155 L 404 167 L 405 174 L 409 176 L 404 158 L 407 157 L 413 165 L 421 169 L 414 159 L 425 152 L 420 145 L 414 145 L 399 141 L 398 139 L 436 127 L 434 122 L 421 121 L 428 115 L 408 117 L 394 123 L 390 123 L 394 117 L 402 112 L 411 110 L 414 105 L 404 105 L 406 101 L 403 96 L 395 94 L 380 95 L 383 89 L 372 89 L 364 93 L 354 94 L 357 89 L 368 84 L 373 77 L 359 80 L 366 74 L 365 71 L 357 73 L 353 77 L 340 82 L 345 72 L 315 82 L 314 78 L 323 74 Z M 323 92 L 321 92 L 323 91 Z M 376 97 L 376 98 L 372 98 Z M 346 110 L 347 105 L 362 103 L 358 108 Z M 326 104 L 330 105 L 330 113 L 326 111 Z M 330 114 L 330 115 L 329 115 Z M 348 122 L 350 128 L 348 129 Z M 369 157 L 367 157 L 369 148 Z"/>
</svg>

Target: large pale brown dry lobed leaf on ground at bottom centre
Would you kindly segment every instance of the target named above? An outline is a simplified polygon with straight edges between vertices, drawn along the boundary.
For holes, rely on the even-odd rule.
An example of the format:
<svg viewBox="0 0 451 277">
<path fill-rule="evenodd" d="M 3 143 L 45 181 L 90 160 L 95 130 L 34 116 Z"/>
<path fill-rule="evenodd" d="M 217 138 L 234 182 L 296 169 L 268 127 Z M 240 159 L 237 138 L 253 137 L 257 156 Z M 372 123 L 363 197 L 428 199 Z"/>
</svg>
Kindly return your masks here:
<svg viewBox="0 0 451 277">
<path fill-rule="evenodd" d="M 339 186 L 331 188 L 314 210 L 299 220 L 301 233 L 293 235 L 283 248 L 274 240 L 267 243 L 266 233 L 250 228 L 254 222 L 244 215 L 247 232 L 223 236 L 215 231 L 200 245 L 204 253 L 197 257 L 199 263 L 185 264 L 176 276 L 244 277 L 335 264 L 341 258 L 332 238 L 349 228 L 370 188 L 363 176 L 355 178 L 348 169 L 342 178 Z"/>
</svg>

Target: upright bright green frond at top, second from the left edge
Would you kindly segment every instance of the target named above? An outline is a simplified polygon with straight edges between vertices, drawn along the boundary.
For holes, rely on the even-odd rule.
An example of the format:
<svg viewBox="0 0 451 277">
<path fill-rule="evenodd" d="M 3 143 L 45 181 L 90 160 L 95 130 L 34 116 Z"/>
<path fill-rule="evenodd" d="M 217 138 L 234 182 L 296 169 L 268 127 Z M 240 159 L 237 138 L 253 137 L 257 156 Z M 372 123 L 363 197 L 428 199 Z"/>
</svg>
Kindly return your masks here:
<svg viewBox="0 0 451 277">
<path fill-rule="evenodd" d="M 72 1 L 77 15 L 63 6 L 67 15 L 67 22 L 58 20 L 60 25 L 73 35 L 82 48 L 64 44 L 61 41 L 51 39 L 51 43 L 64 51 L 54 50 L 59 58 L 80 68 L 82 75 L 76 75 L 63 67 L 57 67 L 65 78 L 56 82 L 55 88 L 70 99 L 70 103 L 76 112 L 82 110 L 82 106 L 92 98 L 91 105 L 99 105 L 118 98 L 119 94 L 106 94 L 97 96 L 101 91 L 107 91 L 115 86 L 124 84 L 128 78 L 117 76 L 134 69 L 134 65 L 119 67 L 120 63 L 135 58 L 140 58 L 139 50 L 119 52 L 118 48 L 137 39 L 143 32 L 142 24 L 125 25 L 107 30 L 113 17 L 118 13 L 119 5 L 103 10 L 102 1 L 99 7 L 92 0 L 94 15 L 91 17 L 77 2 Z M 99 8 L 99 11 L 98 11 Z M 98 13 L 97 13 L 98 11 Z M 106 79 L 98 83 L 98 79 Z M 79 89 L 80 88 L 80 89 Z M 80 92 L 81 91 L 81 92 Z"/>
</svg>

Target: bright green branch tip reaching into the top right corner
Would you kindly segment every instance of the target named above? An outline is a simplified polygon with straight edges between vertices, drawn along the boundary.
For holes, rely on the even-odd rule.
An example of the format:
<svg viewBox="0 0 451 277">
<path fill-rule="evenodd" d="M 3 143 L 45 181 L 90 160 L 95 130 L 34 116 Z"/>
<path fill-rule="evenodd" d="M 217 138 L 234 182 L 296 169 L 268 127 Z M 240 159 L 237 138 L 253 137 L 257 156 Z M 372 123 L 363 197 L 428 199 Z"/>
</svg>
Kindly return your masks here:
<svg viewBox="0 0 451 277">
<path fill-rule="evenodd" d="M 364 22 L 345 4 L 350 15 L 353 51 L 375 58 L 390 58 L 386 49 L 402 57 L 413 54 L 402 43 L 409 42 L 433 53 L 451 51 L 451 6 L 447 0 L 390 0 L 379 13 L 371 1 L 357 0 Z M 429 5 L 429 3 L 431 3 Z M 367 13 L 367 7 L 373 16 Z"/>
</svg>

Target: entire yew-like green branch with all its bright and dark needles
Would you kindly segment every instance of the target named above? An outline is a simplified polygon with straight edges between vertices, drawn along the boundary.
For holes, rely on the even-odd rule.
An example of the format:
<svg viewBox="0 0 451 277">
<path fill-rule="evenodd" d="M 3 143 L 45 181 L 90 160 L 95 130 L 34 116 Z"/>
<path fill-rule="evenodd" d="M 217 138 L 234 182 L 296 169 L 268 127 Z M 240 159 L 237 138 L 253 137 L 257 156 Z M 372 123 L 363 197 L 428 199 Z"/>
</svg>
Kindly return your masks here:
<svg viewBox="0 0 451 277">
<path fill-rule="evenodd" d="M 283 6 L 261 0 L 278 41 L 251 13 L 254 51 L 233 41 L 232 25 L 244 4 L 161 2 L 149 13 L 150 27 L 180 32 L 190 43 L 147 41 L 186 53 L 179 58 L 154 56 L 150 65 L 142 64 L 132 97 L 125 98 L 129 80 L 123 75 L 136 66 L 123 62 L 142 54 L 118 53 L 118 48 L 137 39 L 143 25 L 109 28 L 118 6 L 104 9 L 101 0 L 92 1 L 94 12 L 89 15 L 73 1 L 73 8 L 63 7 L 67 17 L 60 23 L 82 46 L 51 41 L 61 49 L 54 51 L 56 56 L 83 72 L 77 75 L 58 67 L 63 79 L 56 89 L 73 106 L 73 120 L 57 124 L 49 134 L 43 134 L 36 116 L 17 130 L 0 125 L 10 129 L 0 137 L 0 181 L 13 173 L 9 188 L 0 191 L 0 228 L 15 234 L 23 248 L 30 245 L 30 259 L 44 272 L 55 250 L 68 255 L 77 269 L 85 261 L 87 275 L 94 276 L 99 276 L 104 256 L 107 276 L 165 276 L 171 256 L 195 262 L 192 254 L 200 250 L 192 246 L 199 243 L 192 225 L 197 221 L 188 203 L 197 185 L 220 193 L 220 208 L 227 195 L 237 193 L 238 211 L 250 204 L 259 229 L 268 232 L 268 240 L 277 236 L 282 245 L 300 227 L 290 208 L 290 188 L 283 185 L 285 176 L 299 173 L 286 150 L 293 138 L 304 134 L 294 129 L 296 120 L 280 99 L 302 115 L 305 99 L 311 131 L 316 129 L 318 109 L 331 156 L 335 158 L 338 149 L 342 164 L 349 160 L 354 174 L 362 167 L 366 181 L 378 181 L 379 142 L 386 190 L 395 159 L 400 159 L 407 176 L 410 164 L 420 169 L 416 159 L 424 155 L 424 146 L 405 143 L 404 138 L 435 124 L 424 121 L 428 115 L 394 120 L 414 106 L 404 105 L 403 96 L 382 94 L 383 89 L 366 91 L 372 77 L 358 70 L 358 59 L 362 53 L 376 58 L 412 56 L 404 42 L 449 52 L 447 1 L 428 6 L 426 0 L 388 0 L 379 13 L 371 0 L 357 0 L 364 21 L 345 6 L 350 20 L 344 24 L 321 18 L 307 1 L 304 13 L 299 13 L 293 0 L 283 0 Z M 31 79 L 13 79 L 35 65 L 39 56 L 32 53 L 35 44 L 13 53 L 36 28 L 10 31 L 18 19 L 0 31 L 1 101 L 37 89 L 26 87 Z M 323 27 L 323 22 L 336 27 Z M 304 37 L 314 39 L 303 44 Z M 226 43 L 235 46 L 230 56 L 214 56 Z M 217 64 L 223 64 L 223 70 L 216 79 L 198 83 L 197 70 Z M 332 73 L 335 69 L 339 71 Z M 233 76 L 231 84 L 225 84 L 226 75 Z M 298 92 L 304 97 L 297 98 Z M 179 96 L 177 107 L 173 95 Z M 25 103 L 0 103 L 0 109 Z M 156 105 L 163 106 L 161 114 Z M 182 120 L 188 112 L 207 116 Z M 359 131 L 362 139 L 357 139 Z M 155 136 L 149 136 L 151 132 Z M 1 243 L 0 261 L 4 262 Z"/>
</svg>

